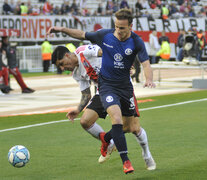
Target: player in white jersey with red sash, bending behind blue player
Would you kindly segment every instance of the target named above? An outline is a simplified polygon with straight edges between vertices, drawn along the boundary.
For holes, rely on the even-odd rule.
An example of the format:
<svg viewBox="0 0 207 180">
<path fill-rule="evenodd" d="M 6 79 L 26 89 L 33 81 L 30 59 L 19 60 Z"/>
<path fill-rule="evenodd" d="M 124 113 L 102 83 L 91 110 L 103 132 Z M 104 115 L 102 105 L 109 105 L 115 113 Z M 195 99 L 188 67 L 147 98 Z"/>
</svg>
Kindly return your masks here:
<svg viewBox="0 0 207 180">
<path fill-rule="evenodd" d="M 73 78 L 79 83 L 82 93 L 81 102 L 77 109 L 69 112 L 67 117 L 74 120 L 78 114 L 84 109 L 91 98 L 90 80 L 95 84 L 97 82 L 98 73 L 101 68 L 102 50 L 97 45 L 80 46 L 74 53 L 70 53 L 64 46 L 58 46 L 52 54 L 52 63 L 56 64 L 62 70 L 73 71 Z M 136 104 L 136 102 L 135 102 Z M 138 108 L 136 109 L 138 110 Z M 96 94 L 86 110 L 84 111 L 80 123 L 82 127 L 92 136 L 99 139 L 99 134 L 103 133 L 103 129 L 96 123 L 98 118 L 105 118 L 107 115 L 100 101 L 99 95 Z M 133 128 L 127 122 L 124 122 L 124 132 L 132 132 L 140 146 L 142 147 L 142 155 L 148 170 L 154 170 L 156 164 L 149 150 L 147 134 L 139 124 L 139 112 L 135 112 L 135 121 Z M 113 150 L 113 141 L 107 148 L 107 154 L 102 154 L 99 162 L 105 162 Z"/>
</svg>

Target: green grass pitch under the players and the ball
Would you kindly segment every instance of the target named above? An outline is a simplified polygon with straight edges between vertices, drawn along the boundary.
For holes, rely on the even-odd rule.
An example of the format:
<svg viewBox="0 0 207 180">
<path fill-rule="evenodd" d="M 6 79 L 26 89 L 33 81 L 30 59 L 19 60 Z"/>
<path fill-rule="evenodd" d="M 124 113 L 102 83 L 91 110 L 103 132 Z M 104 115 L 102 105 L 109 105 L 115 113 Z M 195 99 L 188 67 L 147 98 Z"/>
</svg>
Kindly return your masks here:
<svg viewBox="0 0 207 180">
<path fill-rule="evenodd" d="M 207 98 L 207 91 L 150 97 L 139 104 L 140 122 L 148 134 L 151 153 L 157 163 L 147 171 L 141 148 L 132 134 L 126 134 L 129 158 L 135 168 L 125 175 L 117 152 L 98 164 L 101 143 L 86 133 L 79 121 L 61 122 L 1 132 L 3 129 L 63 120 L 65 113 L 0 118 L 1 180 L 200 180 L 207 178 L 207 100 L 144 110 L 167 104 Z M 149 98 L 145 98 L 149 99 Z M 109 119 L 98 120 L 109 130 Z M 23 168 L 7 160 L 14 145 L 26 146 L 30 162 Z"/>
</svg>

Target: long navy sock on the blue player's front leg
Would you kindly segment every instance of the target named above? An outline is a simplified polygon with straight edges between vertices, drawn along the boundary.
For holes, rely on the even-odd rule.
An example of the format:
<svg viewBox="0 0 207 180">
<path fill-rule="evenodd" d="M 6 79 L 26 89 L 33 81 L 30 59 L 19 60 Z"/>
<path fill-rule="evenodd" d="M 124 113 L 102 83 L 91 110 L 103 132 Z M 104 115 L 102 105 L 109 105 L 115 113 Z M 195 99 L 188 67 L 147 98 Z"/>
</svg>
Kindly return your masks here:
<svg viewBox="0 0 207 180">
<path fill-rule="evenodd" d="M 114 124 L 112 125 L 112 138 L 114 140 L 115 146 L 120 154 L 122 162 L 129 160 L 127 156 L 127 144 L 125 135 L 123 133 L 123 125 L 122 124 Z"/>
</svg>

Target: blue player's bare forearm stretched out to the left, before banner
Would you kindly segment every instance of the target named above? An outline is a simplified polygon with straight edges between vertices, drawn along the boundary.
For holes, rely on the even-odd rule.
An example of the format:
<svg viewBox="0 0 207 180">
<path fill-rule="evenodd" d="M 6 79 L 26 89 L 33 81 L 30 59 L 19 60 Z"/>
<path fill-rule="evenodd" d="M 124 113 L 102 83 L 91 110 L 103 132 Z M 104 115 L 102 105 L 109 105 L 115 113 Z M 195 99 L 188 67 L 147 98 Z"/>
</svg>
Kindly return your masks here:
<svg viewBox="0 0 207 180">
<path fill-rule="evenodd" d="M 52 33 L 58 33 L 58 32 L 63 32 L 75 39 L 80 39 L 80 40 L 85 39 L 85 32 L 82 30 L 65 28 L 65 27 L 57 27 L 57 26 L 50 27 L 50 29 L 47 31 L 47 35 L 50 35 Z"/>
</svg>

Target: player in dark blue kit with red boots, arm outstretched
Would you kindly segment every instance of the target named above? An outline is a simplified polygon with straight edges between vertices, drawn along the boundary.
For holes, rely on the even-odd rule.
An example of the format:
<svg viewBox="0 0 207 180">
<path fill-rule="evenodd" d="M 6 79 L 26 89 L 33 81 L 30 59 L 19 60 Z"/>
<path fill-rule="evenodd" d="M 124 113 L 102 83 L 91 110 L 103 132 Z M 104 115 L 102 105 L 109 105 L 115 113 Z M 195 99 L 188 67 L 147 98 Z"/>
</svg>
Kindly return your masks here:
<svg viewBox="0 0 207 180">
<path fill-rule="evenodd" d="M 99 93 L 102 104 L 112 121 L 112 129 L 107 134 L 100 134 L 103 142 L 113 138 L 123 162 L 124 173 L 131 173 L 134 168 L 128 158 L 126 139 L 123 132 L 123 119 L 133 127 L 134 99 L 133 86 L 130 81 L 130 68 L 138 54 L 145 68 L 144 87 L 155 87 L 153 73 L 144 42 L 133 33 L 133 16 L 130 10 L 121 9 L 115 14 L 115 29 L 102 29 L 97 32 L 83 32 L 77 29 L 52 27 L 48 34 L 64 32 L 77 39 L 87 39 L 102 48 L 102 67 L 99 74 Z M 123 119 L 122 119 L 123 118 Z M 107 146 L 102 145 L 102 150 Z"/>
</svg>

